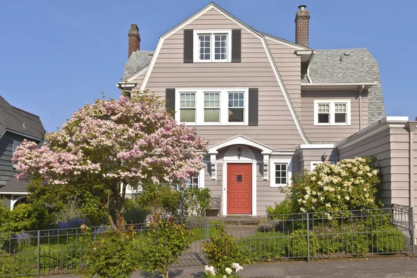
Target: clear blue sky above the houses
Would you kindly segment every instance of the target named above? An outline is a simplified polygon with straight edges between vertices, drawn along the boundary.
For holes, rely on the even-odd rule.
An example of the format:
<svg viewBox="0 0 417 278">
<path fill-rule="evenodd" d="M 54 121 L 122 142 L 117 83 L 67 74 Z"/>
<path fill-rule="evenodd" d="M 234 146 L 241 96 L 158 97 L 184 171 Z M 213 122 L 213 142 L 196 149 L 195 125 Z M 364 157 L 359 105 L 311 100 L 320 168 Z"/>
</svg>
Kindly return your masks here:
<svg viewBox="0 0 417 278">
<path fill-rule="evenodd" d="M 141 50 L 209 1 L 0 1 L 0 95 L 56 130 L 93 99 L 117 98 L 127 31 Z M 297 6 L 310 10 L 310 47 L 366 47 L 379 63 L 387 115 L 417 116 L 414 1 L 221 0 L 259 31 L 294 41 Z M 409 13 L 409 15 L 407 15 Z"/>
</svg>

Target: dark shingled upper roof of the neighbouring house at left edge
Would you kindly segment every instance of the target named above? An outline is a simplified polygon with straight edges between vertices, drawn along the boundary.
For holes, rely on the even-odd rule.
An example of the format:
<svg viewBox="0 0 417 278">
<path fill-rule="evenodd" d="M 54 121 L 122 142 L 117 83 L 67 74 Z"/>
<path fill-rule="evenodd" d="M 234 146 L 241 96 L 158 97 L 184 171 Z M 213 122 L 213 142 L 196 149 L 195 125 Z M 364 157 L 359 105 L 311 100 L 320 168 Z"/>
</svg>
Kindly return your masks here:
<svg viewBox="0 0 417 278">
<path fill-rule="evenodd" d="M 0 133 L 22 133 L 39 140 L 44 138 L 44 126 L 37 115 L 10 105 L 0 96 Z"/>
</svg>

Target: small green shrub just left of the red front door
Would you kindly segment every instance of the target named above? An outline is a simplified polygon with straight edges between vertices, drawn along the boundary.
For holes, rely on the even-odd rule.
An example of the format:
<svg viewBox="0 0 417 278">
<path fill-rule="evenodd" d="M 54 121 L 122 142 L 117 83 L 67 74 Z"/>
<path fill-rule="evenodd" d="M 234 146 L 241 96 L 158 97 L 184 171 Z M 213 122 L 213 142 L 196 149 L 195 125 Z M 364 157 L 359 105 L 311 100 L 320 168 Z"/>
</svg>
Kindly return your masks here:
<svg viewBox="0 0 417 278">
<path fill-rule="evenodd" d="M 184 191 L 184 208 L 187 215 L 205 215 L 210 209 L 211 194 L 208 188 L 186 188 Z"/>
</svg>

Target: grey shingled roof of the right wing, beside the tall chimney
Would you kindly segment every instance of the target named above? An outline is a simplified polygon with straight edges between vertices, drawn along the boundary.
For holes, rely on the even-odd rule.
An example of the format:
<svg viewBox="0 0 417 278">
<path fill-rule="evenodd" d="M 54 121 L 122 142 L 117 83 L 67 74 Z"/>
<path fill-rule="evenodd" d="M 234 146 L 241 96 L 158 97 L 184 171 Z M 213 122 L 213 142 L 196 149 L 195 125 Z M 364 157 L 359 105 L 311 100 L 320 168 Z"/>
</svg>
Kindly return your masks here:
<svg viewBox="0 0 417 278">
<path fill-rule="evenodd" d="M 375 82 L 368 90 L 369 124 L 385 117 L 379 65 L 368 49 L 316 50 L 309 77 L 311 83 Z M 302 82 L 309 83 L 305 76 Z"/>
</svg>

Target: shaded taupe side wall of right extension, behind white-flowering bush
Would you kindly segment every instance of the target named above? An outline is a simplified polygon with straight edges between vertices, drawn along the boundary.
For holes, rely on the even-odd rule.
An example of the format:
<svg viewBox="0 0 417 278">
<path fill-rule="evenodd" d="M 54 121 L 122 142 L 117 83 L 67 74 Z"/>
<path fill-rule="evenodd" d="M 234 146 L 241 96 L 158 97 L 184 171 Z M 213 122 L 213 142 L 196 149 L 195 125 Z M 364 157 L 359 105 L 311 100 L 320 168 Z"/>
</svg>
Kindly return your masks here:
<svg viewBox="0 0 417 278">
<path fill-rule="evenodd" d="M 393 173 L 391 170 L 390 132 L 389 129 L 381 131 L 375 136 L 370 136 L 360 142 L 338 149 L 339 160 L 355 158 L 358 156 L 376 156 L 379 167 L 381 167 L 382 183 L 379 184 L 379 197 L 384 204 L 391 204 L 391 181 Z M 395 179 L 395 177 L 394 177 Z"/>
</svg>

